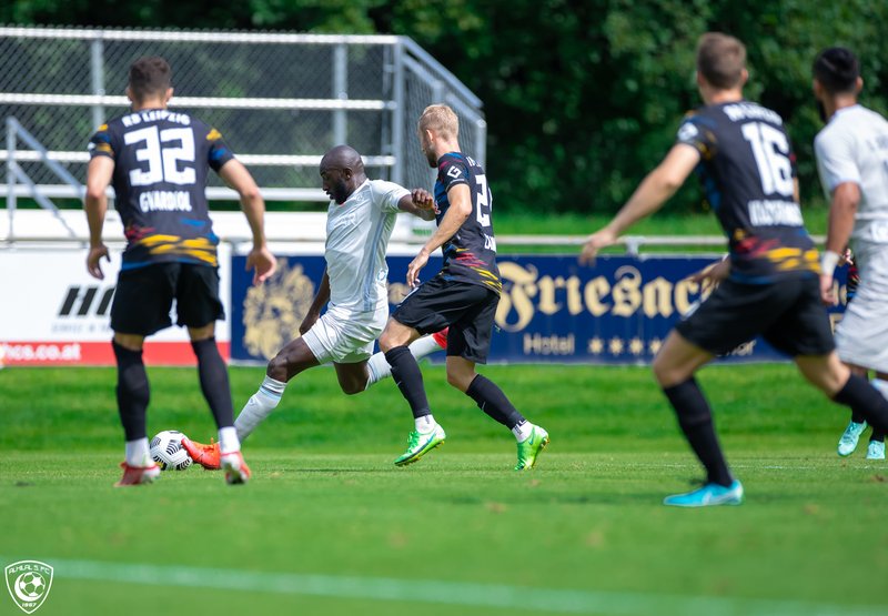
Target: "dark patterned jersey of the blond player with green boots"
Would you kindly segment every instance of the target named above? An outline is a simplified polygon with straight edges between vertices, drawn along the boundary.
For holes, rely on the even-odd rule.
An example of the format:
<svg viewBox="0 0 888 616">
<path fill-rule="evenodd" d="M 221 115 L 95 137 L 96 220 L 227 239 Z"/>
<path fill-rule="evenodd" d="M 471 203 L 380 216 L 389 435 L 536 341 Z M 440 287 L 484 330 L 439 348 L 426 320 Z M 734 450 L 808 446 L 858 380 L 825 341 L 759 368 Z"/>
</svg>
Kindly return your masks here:
<svg viewBox="0 0 888 616">
<path fill-rule="evenodd" d="M 444 280 L 486 286 L 497 294 L 503 290 L 496 267 L 496 240 L 491 220 L 492 195 L 484 169 L 470 156 L 450 152 L 437 161 L 435 182 L 435 220 L 441 220 L 451 206 L 447 191 L 466 184 L 472 194 L 472 213 L 443 246 L 444 265 L 438 275 Z"/>
</svg>

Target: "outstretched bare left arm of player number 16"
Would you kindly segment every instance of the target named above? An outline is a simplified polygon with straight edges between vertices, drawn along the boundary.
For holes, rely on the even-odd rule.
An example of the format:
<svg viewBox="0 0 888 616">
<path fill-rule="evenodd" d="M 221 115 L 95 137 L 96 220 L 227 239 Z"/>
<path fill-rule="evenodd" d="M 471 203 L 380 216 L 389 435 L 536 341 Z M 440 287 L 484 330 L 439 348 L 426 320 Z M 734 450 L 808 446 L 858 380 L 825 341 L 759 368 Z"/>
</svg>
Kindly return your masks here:
<svg viewBox="0 0 888 616">
<path fill-rule="evenodd" d="M 594 263 L 599 250 L 614 244 L 629 226 L 659 210 L 685 183 L 699 161 L 700 153 L 693 145 L 673 145 L 663 162 L 647 174 L 617 215 L 604 229 L 588 236 L 579 262 Z"/>
</svg>

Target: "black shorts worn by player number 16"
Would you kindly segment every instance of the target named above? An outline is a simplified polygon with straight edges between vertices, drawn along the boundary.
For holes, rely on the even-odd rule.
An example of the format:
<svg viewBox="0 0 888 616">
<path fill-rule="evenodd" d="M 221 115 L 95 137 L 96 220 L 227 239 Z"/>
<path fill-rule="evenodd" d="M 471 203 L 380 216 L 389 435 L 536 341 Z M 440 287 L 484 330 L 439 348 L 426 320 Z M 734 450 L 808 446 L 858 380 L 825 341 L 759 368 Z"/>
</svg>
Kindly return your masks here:
<svg viewBox="0 0 888 616">
<path fill-rule="evenodd" d="M 836 349 L 817 276 L 771 284 L 726 280 L 675 329 L 714 355 L 757 335 L 791 357 L 826 355 Z"/>
</svg>

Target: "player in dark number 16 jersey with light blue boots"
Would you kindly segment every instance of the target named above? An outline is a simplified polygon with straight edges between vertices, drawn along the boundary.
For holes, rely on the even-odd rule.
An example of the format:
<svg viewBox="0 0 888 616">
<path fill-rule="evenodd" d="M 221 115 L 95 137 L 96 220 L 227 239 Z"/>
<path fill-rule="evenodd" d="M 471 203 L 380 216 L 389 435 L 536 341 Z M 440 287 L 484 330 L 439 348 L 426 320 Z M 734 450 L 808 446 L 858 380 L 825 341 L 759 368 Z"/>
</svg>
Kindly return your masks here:
<svg viewBox="0 0 888 616">
<path fill-rule="evenodd" d="M 677 143 L 610 223 L 593 233 L 581 255 L 598 251 L 655 212 L 697 169 L 725 234 L 729 259 L 709 276 L 718 289 L 669 334 L 654 374 L 678 416 L 706 485 L 667 497 L 667 505 L 738 505 L 743 486 L 722 454 L 712 412 L 694 373 L 757 334 L 795 360 L 804 376 L 834 401 L 888 425 L 888 401 L 852 375 L 835 352 L 820 302 L 817 251 L 801 222 L 794 156 L 783 121 L 743 99 L 746 50 L 710 32 L 697 48 L 697 85 L 705 105 L 678 129 Z"/>
</svg>

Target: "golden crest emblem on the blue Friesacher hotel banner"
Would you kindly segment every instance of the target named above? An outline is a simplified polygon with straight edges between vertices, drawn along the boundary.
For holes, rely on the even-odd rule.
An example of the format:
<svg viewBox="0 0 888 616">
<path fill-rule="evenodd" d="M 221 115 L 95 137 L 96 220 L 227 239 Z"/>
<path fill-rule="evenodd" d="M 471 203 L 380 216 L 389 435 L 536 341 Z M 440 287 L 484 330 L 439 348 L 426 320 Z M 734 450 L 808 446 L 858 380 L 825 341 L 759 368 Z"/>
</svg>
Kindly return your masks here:
<svg viewBox="0 0 888 616">
<path fill-rule="evenodd" d="M 302 265 L 278 261 L 278 272 L 251 286 L 243 301 L 243 345 L 251 355 L 271 360 L 292 340 L 314 300 L 314 283 Z"/>
</svg>

